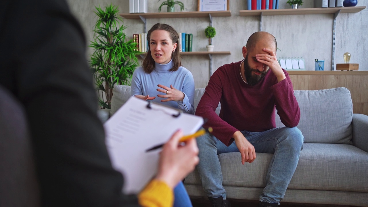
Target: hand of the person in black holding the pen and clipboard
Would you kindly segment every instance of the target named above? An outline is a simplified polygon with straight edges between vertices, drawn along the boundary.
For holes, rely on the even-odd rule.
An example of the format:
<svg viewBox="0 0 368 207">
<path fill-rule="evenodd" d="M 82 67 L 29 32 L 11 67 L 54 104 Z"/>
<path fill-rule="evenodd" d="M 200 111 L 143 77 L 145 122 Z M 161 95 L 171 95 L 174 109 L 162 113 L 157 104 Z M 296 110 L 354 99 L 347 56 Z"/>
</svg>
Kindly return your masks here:
<svg viewBox="0 0 368 207">
<path fill-rule="evenodd" d="M 179 145 L 181 137 L 183 137 L 183 131 L 178 130 L 163 145 L 160 152 L 159 169 L 155 177 L 171 188 L 192 172 L 199 162 L 197 141 L 191 138 L 185 141 L 184 146 L 181 146 Z"/>
</svg>

